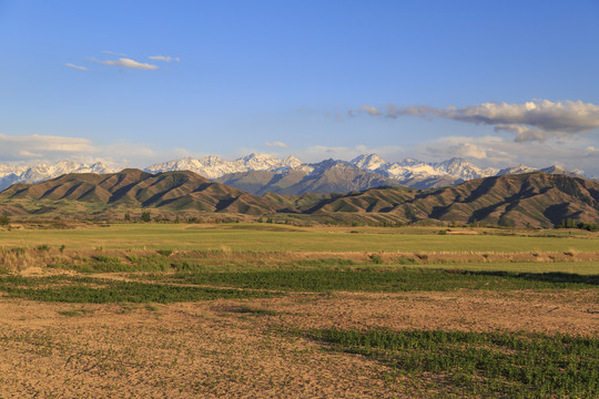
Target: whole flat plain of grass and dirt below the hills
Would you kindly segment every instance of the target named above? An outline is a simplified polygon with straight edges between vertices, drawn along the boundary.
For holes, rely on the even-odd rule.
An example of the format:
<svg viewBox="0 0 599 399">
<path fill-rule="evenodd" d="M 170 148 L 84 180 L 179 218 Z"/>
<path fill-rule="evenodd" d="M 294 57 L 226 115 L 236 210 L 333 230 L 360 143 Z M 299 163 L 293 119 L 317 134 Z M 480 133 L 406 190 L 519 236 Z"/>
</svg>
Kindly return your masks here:
<svg viewBox="0 0 599 399">
<path fill-rule="evenodd" d="M 599 395 L 599 234 L 0 232 L 0 397 Z"/>
</svg>

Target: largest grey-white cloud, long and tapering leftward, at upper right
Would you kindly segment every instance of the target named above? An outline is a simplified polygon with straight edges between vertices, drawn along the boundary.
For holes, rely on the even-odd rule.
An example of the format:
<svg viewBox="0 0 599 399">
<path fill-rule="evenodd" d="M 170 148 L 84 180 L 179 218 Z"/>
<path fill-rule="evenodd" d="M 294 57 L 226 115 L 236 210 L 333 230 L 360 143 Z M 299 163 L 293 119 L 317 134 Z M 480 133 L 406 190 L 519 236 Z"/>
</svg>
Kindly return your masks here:
<svg viewBox="0 0 599 399">
<path fill-rule="evenodd" d="M 578 101 L 535 100 L 524 104 L 488 102 L 478 105 L 436 109 L 427 105 L 397 106 L 388 104 L 384 111 L 363 105 L 358 111 L 372 116 L 399 117 L 415 115 L 444 117 L 459 122 L 495 125 L 496 131 L 516 133 L 517 142 L 545 141 L 555 136 L 588 133 L 599 127 L 599 105 Z"/>
</svg>

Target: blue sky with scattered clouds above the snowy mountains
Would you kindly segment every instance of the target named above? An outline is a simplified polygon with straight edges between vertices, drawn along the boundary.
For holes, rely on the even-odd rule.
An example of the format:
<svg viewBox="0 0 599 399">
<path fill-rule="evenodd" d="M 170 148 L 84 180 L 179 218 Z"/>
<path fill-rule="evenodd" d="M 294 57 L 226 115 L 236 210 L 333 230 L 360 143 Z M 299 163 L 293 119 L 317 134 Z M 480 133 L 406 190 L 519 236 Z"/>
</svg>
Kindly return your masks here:
<svg viewBox="0 0 599 399">
<path fill-rule="evenodd" d="M 377 152 L 599 175 L 598 38 L 595 0 L 0 0 L 0 162 Z"/>
</svg>

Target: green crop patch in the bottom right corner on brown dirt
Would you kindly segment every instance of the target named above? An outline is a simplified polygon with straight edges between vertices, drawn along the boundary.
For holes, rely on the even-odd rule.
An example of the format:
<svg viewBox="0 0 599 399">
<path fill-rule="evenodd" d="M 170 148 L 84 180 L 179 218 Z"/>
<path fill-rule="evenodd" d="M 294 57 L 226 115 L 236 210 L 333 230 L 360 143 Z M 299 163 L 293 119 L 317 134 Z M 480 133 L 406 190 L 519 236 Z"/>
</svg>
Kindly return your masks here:
<svg viewBox="0 0 599 399">
<path fill-rule="evenodd" d="M 599 395 L 599 339 L 524 332 L 318 329 L 304 336 L 359 354 L 396 376 L 433 380 L 440 396 L 591 398 Z M 433 383 L 432 383 L 433 385 Z"/>
</svg>

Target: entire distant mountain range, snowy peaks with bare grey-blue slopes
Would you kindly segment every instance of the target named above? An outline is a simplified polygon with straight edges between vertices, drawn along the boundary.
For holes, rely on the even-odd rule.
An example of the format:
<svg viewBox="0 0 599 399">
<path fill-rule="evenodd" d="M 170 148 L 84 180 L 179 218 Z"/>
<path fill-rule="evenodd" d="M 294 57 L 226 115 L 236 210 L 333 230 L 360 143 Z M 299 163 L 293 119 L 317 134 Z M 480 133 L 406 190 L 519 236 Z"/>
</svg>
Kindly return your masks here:
<svg viewBox="0 0 599 399">
<path fill-rule="evenodd" d="M 114 173 L 121 167 L 109 167 L 74 161 L 32 166 L 0 164 L 0 190 L 14 183 L 39 183 L 67 173 Z M 284 160 L 270 154 L 250 154 L 235 161 L 210 155 L 201 160 L 185 157 L 153 164 L 145 172 L 191 171 L 214 182 L 223 183 L 252 194 L 278 193 L 348 193 L 378 186 L 406 186 L 413 188 L 444 187 L 474 178 L 537 171 L 519 165 L 515 167 L 480 168 L 463 158 L 426 163 L 414 158 L 387 162 L 376 154 L 363 154 L 346 161 L 325 160 L 303 163 L 290 155 Z M 546 173 L 581 176 L 559 166 L 540 170 Z"/>
</svg>

